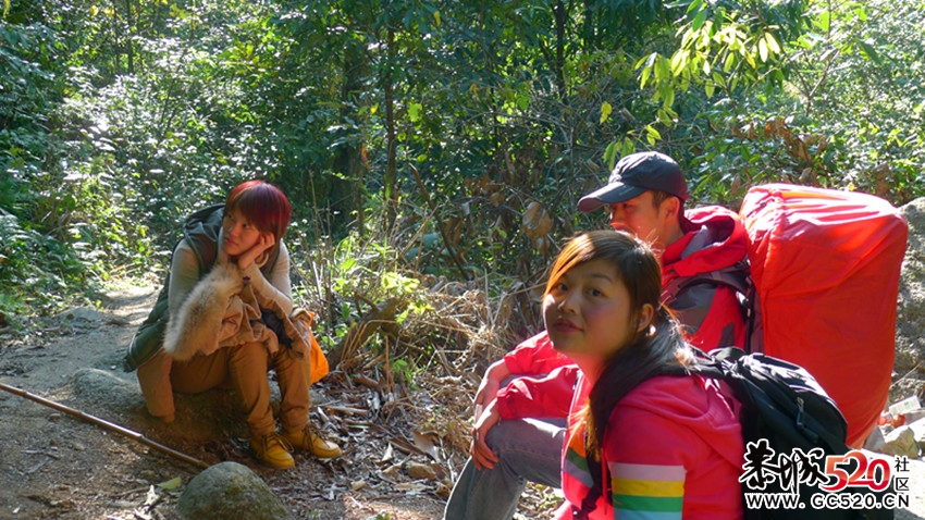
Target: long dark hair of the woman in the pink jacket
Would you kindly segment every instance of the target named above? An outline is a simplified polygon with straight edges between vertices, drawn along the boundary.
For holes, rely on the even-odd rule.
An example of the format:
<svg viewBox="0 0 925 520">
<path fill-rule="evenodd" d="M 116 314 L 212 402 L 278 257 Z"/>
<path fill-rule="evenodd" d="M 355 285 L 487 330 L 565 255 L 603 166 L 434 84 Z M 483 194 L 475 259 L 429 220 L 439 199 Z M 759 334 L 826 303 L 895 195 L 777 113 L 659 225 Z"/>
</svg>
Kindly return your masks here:
<svg viewBox="0 0 925 520">
<path fill-rule="evenodd" d="M 632 312 L 631 323 L 646 304 L 656 309 L 650 326 L 639 331 L 630 342 L 604 362 L 597 382 L 591 389 L 582 411 L 588 435 L 587 457 L 601 460 L 601 442 L 614 406 L 637 385 L 651 377 L 665 364 L 684 364 L 690 351 L 681 329 L 671 312 L 659 302 L 662 268 L 648 244 L 618 231 L 595 231 L 574 237 L 553 264 L 546 294 L 570 269 L 591 260 L 603 259 L 614 265 L 626 285 Z"/>
</svg>

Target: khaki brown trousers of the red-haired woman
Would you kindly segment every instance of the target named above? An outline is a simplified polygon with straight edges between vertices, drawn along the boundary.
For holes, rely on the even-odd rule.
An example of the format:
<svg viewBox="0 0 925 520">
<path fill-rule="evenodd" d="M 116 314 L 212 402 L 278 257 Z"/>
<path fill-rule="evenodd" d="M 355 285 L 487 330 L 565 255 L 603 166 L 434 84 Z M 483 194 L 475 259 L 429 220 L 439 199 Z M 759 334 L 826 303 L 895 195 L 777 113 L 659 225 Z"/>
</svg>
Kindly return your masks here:
<svg viewBox="0 0 925 520">
<path fill-rule="evenodd" d="M 240 396 L 251 436 L 276 431 L 270 408 L 270 380 L 274 369 L 280 383 L 280 423 L 283 431 L 303 430 L 308 424 L 308 359 L 288 348 L 271 355 L 263 344 L 246 343 L 223 347 L 211 356 L 197 356 L 189 361 L 174 361 L 170 371 L 173 389 L 198 394 L 225 383 Z"/>
</svg>

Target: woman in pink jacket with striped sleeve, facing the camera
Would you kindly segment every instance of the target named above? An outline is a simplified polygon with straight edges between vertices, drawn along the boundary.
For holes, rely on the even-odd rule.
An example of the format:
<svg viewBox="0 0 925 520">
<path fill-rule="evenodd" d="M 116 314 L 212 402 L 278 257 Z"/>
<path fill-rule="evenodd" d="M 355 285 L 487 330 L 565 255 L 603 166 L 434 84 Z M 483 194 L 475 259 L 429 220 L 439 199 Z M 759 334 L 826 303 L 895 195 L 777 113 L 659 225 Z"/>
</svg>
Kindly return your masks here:
<svg viewBox="0 0 925 520">
<path fill-rule="evenodd" d="M 696 375 L 656 375 L 691 359 L 661 282 L 655 255 L 624 233 L 579 235 L 556 259 L 544 321 L 579 369 L 556 518 L 742 517 L 737 404 Z"/>
</svg>

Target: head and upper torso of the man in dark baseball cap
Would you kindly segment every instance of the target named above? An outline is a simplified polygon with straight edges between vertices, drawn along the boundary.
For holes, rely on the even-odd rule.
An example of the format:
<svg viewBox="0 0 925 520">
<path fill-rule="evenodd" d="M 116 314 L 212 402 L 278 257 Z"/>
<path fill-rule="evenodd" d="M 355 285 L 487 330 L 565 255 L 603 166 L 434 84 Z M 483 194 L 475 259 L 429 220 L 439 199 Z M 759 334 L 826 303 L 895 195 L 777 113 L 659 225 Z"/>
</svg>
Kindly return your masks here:
<svg viewBox="0 0 925 520">
<path fill-rule="evenodd" d="M 610 225 L 662 251 L 662 302 L 675 311 L 700 348 L 744 346 L 745 323 L 736 288 L 711 283 L 717 272 L 744 276 L 748 239 L 738 215 L 708 206 L 684 214 L 688 183 L 680 166 L 657 151 L 617 162 L 606 186 L 585 195 L 578 209 L 607 207 Z"/>
</svg>

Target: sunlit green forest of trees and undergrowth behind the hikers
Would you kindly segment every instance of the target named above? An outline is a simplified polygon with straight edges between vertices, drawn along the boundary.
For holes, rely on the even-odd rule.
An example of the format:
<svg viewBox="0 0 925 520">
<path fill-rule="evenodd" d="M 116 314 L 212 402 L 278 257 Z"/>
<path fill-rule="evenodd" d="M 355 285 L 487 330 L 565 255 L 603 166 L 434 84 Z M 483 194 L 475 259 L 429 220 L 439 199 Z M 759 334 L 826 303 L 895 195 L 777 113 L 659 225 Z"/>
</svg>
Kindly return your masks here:
<svg viewBox="0 0 925 520">
<path fill-rule="evenodd" d="M 923 0 L 4 0 L 0 329 L 159 284 L 183 218 L 260 177 L 335 361 L 473 361 L 542 326 L 626 153 L 675 157 L 691 205 L 925 195 L 923 42 Z"/>
</svg>

